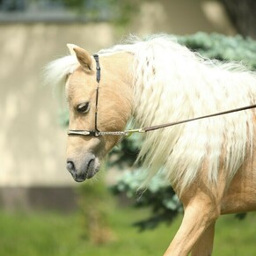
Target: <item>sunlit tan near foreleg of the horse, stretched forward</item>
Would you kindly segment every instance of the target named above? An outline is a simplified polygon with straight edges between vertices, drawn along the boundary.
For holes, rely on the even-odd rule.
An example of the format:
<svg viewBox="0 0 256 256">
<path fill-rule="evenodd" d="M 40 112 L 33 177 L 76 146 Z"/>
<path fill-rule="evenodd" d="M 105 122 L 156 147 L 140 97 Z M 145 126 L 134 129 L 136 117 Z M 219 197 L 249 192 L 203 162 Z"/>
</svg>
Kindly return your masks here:
<svg viewBox="0 0 256 256">
<path fill-rule="evenodd" d="M 208 227 L 215 223 L 218 216 L 219 211 L 214 204 L 197 201 L 189 204 L 185 209 L 179 230 L 165 252 L 165 256 L 187 256 Z"/>
</svg>

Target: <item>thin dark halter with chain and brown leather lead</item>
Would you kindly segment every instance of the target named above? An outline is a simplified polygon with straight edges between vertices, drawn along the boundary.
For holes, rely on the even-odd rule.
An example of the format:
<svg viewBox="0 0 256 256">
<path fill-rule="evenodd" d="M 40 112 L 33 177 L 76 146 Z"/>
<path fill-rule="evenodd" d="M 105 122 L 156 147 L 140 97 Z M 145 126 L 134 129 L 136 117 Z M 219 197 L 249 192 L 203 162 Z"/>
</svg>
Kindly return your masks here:
<svg viewBox="0 0 256 256">
<path fill-rule="evenodd" d="M 239 112 L 239 111 L 244 111 L 244 110 L 256 107 L 256 104 L 250 105 L 250 106 L 243 106 L 243 107 L 234 108 L 234 109 L 230 109 L 230 110 L 223 111 L 223 112 L 202 115 L 202 116 L 195 117 L 195 118 L 192 118 L 192 119 L 187 119 L 187 120 L 183 120 L 183 121 L 173 121 L 173 122 L 169 122 L 169 123 L 165 123 L 165 124 L 161 124 L 161 125 L 156 125 L 156 126 L 151 126 L 151 127 L 145 127 L 145 128 L 135 128 L 135 129 L 128 129 L 128 130 L 124 130 L 124 131 L 99 131 L 99 129 L 97 127 L 97 123 L 98 123 L 98 102 L 99 102 L 99 82 L 100 82 L 99 55 L 93 55 L 93 58 L 96 62 L 96 81 L 98 83 L 97 88 L 96 88 L 94 130 L 91 130 L 91 131 L 90 130 L 68 130 L 68 135 L 83 135 L 83 136 L 84 135 L 91 135 L 91 136 L 94 136 L 94 137 L 99 137 L 99 136 L 103 136 L 103 135 L 129 136 L 129 135 L 132 135 L 134 133 L 146 133 L 146 132 L 157 130 L 157 129 L 160 129 L 160 128 L 172 127 L 174 125 L 179 125 L 181 123 L 186 123 L 186 122 L 189 122 L 189 121 L 197 121 L 197 120 L 210 118 L 210 117 L 214 117 L 214 116 L 218 116 L 218 115 L 223 115 L 223 114 L 227 114 L 227 113 L 235 113 L 235 112 Z"/>
</svg>

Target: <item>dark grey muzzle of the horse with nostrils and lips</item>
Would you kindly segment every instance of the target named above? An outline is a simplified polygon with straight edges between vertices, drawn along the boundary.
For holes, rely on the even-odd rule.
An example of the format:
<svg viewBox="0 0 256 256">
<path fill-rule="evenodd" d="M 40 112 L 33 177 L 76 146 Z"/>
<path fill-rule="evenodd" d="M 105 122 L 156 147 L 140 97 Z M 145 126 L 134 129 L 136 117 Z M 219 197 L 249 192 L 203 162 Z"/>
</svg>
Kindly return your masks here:
<svg viewBox="0 0 256 256">
<path fill-rule="evenodd" d="M 91 179 L 99 172 L 99 158 L 87 153 L 82 159 L 67 159 L 67 169 L 77 182 Z"/>
</svg>

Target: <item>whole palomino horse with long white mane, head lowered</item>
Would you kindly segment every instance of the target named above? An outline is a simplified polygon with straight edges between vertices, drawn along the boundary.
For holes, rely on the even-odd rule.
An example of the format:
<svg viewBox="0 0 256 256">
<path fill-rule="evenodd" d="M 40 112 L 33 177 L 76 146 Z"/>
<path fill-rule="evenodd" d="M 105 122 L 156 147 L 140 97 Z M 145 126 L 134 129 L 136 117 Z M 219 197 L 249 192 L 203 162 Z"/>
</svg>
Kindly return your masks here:
<svg viewBox="0 0 256 256">
<path fill-rule="evenodd" d="M 128 121 L 152 127 L 256 102 L 256 76 L 234 63 L 203 59 L 166 35 L 99 51 L 69 45 L 48 65 L 47 80 L 66 84 L 67 168 L 77 181 L 99 171 Z M 145 133 L 139 157 L 179 195 L 183 221 L 165 255 L 210 255 L 216 219 L 256 209 L 255 112 L 187 122 Z M 140 129 L 139 131 L 144 131 Z"/>
</svg>

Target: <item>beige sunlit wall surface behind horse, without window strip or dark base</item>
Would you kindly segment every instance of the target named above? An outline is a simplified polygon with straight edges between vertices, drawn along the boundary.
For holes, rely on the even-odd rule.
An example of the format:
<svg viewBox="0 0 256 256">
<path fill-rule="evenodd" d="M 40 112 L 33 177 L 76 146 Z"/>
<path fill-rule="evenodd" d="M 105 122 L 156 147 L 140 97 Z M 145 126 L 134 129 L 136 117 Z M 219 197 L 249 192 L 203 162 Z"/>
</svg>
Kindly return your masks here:
<svg viewBox="0 0 256 256">
<path fill-rule="evenodd" d="M 128 33 L 232 34 L 223 9 L 213 1 L 143 2 L 126 27 L 98 24 L 0 25 L 0 187 L 74 184 L 65 169 L 66 133 L 51 88 L 40 70 L 67 53 L 66 43 L 91 53 Z"/>
</svg>

